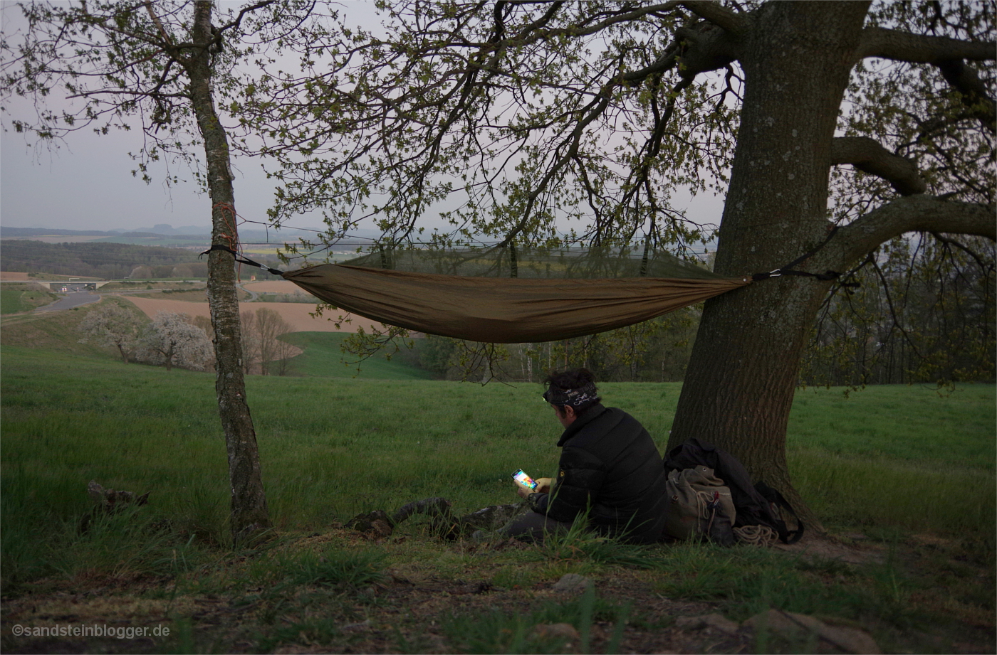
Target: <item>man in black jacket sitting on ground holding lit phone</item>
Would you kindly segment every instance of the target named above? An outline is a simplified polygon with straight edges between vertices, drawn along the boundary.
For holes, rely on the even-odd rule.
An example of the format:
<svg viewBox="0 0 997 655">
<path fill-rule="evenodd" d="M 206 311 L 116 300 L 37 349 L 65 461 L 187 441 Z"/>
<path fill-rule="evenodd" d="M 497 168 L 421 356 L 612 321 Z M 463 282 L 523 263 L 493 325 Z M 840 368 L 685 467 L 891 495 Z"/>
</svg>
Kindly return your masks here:
<svg viewBox="0 0 997 655">
<path fill-rule="evenodd" d="M 657 542 L 668 507 L 665 471 L 651 435 L 637 419 L 601 404 L 595 378 L 585 368 L 552 373 L 543 393 L 564 426 L 553 488 L 530 492 L 516 484 L 531 512 L 501 533 L 542 541 L 544 533 L 567 530 L 579 517 L 588 527 L 627 541 Z"/>
</svg>

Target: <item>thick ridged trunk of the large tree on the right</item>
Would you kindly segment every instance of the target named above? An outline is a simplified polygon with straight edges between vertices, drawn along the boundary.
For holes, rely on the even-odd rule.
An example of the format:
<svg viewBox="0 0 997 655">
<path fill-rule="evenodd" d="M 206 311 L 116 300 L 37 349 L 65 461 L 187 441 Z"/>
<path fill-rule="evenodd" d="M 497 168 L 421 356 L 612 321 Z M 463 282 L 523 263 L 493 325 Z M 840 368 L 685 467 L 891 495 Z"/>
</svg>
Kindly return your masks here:
<svg viewBox="0 0 997 655">
<path fill-rule="evenodd" d="M 827 237 L 831 139 L 867 7 L 773 2 L 751 14 L 756 23 L 739 44 L 745 99 L 717 273 L 778 269 Z M 790 482 L 786 429 L 808 330 L 830 284 L 782 277 L 708 301 L 669 441 L 699 437 L 729 451 L 819 531 Z"/>
</svg>

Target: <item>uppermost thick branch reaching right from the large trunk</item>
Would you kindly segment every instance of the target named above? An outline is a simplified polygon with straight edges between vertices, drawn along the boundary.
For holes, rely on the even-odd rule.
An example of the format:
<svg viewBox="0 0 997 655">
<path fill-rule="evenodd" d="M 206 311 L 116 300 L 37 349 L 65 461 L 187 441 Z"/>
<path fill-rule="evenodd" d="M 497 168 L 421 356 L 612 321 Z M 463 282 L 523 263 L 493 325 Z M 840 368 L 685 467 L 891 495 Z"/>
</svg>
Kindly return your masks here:
<svg viewBox="0 0 997 655">
<path fill-rule="evenodd" d="M 901 30 L 867 27 L 855 53 L 858 59 L 879 57 L 897 62 L 939 64 L 952 59 L 977 62 L 997 59 L 997 42 L 960 41 L 948 37 L 929 37 Z"/>
</svg>

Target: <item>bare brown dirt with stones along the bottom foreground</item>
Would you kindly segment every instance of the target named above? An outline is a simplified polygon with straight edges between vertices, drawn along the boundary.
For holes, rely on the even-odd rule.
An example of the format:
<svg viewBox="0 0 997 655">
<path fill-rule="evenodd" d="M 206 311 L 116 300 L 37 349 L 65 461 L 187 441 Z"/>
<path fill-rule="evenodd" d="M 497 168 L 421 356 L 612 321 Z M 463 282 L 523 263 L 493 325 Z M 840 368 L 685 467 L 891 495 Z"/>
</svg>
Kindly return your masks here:
<svg viewBox="0 0 997 655">
<path fill-rule="evenodd" d="M 321 546 L 336 535 L 314 534 L 294 547 Z M 362 539 L 357 536 L 356 539 Z M 448 546 L 445 546 L 448 547 Z M 4 598 L 0 612 L 0 646 L 5 653 L 85 653 L 85 652 L 276 652 L 276 653 L 455 653 L 462 652 L 447 634 L 445 623 L 454 615 L 486 616 L 493 610 L 505 614 L 525 614 L 551 602 L 576 598 L 581 589 L 558 590 L 551 581 L 525 588 L 494 585 L 494 564 L 490 553 L 502 548 L 529 546 L 514 543 L 498 545 L 464 545 L 462 555 L 484 555 L 482 564 L 468 569 L 466 577 L 454 579 L 438 576 L 433 569 L 401 564 L 389 569 L 381 583 L 355 595 L 352 618 L 343 618 L 342 607 L 336 614 L 331 634 L 316 637 L 300 628 L 300 619 L 292 618 L 290 608 L 299 598 L 287 598 L 281 610 L 262 601 L 249 601 L 255 591 L 263 598 L 264 589 L 249 589 L 248 595 L 225 597 L 223 593 L 179 593 L 170 595 L 168 580 L 147 578 L 88 579 L 78 576 L 72 581 L 41 580 L 35 591 L 21 590 L 17 597 Z M 784 546 L 788 553 L 840 558 L 860 563 L 884 556 L 885 546 L 875 544 L 843 545 L 834 541 L 808 540 L 802 545 Z M 759 634 L 747 624 L 737 624 L 718 616 L 719 603 L 668 598 L 656 590 L 652 580 L 641 571 L 613 569 L 595 576 L 599 598 L 631 607 L 629 620 L 617 635 L 616 652 L 623 653 L 754 653 L 754 652 L 880 652 L 871 642 L 869 648 L 848 650 L 824 640 L 780 642 L 771 637 L 760 641 Z M 175 589 L 175 587 L 174 587 Z M 361 601 L 360 598 L 363 598 Z M 280 603 L 278 603 L 279 605 Z M 332 607 L 333 605 L 329 605 Z M 285 613 L 281 613 L 281 612 Z M 332 611 L 332 610 L 330 610 Z M 274 613 L 276 612 L 276 613 Z M 315 616 L 328 618 L 321 605 Z M 176 617 L 189 621 L 187 632 L 175 638 Z M 711 622 L 710 617 L 715 617 Z M 707 619 L 707 620 L 700 620 Z M 100 637 L 32 637 L 12 636 L 16 626 L 51 626 L 59 624 L 94 624 L 112 627 L 159 625 L 174 626 L 174 638 L 109 639 Z M 563 624 L 560 624 L 563 625 Z M 842 624 L 843 630 L 857 628 Z M 551 626 L 552 627 L 552 626 Z M 920 633 L 916 627 L 890 636 L 892 648 L 886 652 L 994 652 L 993 620 L 965 621 L 959 632 L 938 635 Z M 297 632 L 299 630 L 300 632 Z M 591 629 L 590 650 L 583 650 L 577 634 L 567 639 L 560 652 L 608 652 L 615 626 L 598 617 Z M 283 630 L 273 648 L 267 639 Z M 182 631 L 182 629 L 181 629 Z M 867 637 L 867 633 L 863 633 Z M 184 641 L 185 639 L 185 641 Z M 871 639 L 869 637 L 869 639 Z M 212 645 L 213 644 L 213 645 Z M 282 644 L 282 645 L 280 645 Z M 800 650 L 804 648 L 803 650 Z M 948 650 L 950 649 L 950 650 Z M 504 651 L 502 651 L 504 652 Z"/>
</svg>

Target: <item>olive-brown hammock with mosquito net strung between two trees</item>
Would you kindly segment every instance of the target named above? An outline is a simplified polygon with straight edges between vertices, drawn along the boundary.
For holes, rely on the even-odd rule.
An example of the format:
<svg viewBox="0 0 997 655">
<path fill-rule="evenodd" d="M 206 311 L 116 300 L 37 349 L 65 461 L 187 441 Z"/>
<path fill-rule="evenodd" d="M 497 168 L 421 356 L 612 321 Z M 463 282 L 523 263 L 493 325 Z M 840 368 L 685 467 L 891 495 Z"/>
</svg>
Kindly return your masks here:
<svg viewBox="0 0 997 655">
<path fill-rule="evenodd" d="M 752 282 L 666 253 L 404 250 L 279 273 L 380 323 L 496 343 L 539 342 L 648 321 Z"/>
</svg>

